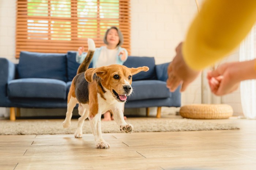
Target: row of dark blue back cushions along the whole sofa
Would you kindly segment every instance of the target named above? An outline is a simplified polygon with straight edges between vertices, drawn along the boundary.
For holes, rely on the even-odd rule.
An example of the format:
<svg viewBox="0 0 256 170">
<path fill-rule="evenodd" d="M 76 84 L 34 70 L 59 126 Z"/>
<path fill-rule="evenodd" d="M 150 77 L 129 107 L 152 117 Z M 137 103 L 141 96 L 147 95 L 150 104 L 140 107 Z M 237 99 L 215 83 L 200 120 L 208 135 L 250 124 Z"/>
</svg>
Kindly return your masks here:
<svg viewBox="0 0 256 170">
<path fill-rule="evenodd" d="M 67 54 L 20 52 L 19 64 L 17 66 L 18 78 L 50 78 L 72 81 L 79 67 L 76 62 L 76 51 L 68 51 Z M 91 68 L 93 63 L 90 64 Z M 139 72 L 132 76 L 132 80 L 154 80 L 155 73 L 154 57 L 128 56 L 124 62 L 126 67 L 149 67 L 147 72 Z"/>
</svg>

